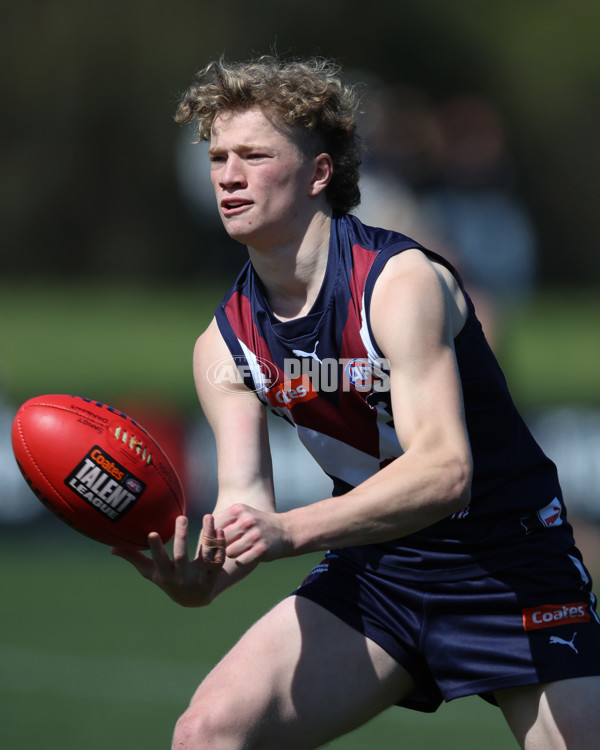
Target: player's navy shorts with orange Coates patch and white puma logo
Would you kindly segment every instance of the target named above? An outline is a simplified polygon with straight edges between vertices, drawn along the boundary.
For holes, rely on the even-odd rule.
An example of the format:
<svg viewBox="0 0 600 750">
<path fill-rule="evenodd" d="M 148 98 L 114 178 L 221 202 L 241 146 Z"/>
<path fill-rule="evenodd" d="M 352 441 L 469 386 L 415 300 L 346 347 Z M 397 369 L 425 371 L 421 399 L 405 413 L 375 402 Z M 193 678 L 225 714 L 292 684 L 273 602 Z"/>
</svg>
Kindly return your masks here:
<svg viewBox="0 0 600 750">
<path fill-rule="evenodd" d="M 399 705 L 600 674 L 600 619 L 576 549 L 467 581 L 406 583 L 328 553 L 294 592 L 379 644 L 413 676 Z"/>
</svg>

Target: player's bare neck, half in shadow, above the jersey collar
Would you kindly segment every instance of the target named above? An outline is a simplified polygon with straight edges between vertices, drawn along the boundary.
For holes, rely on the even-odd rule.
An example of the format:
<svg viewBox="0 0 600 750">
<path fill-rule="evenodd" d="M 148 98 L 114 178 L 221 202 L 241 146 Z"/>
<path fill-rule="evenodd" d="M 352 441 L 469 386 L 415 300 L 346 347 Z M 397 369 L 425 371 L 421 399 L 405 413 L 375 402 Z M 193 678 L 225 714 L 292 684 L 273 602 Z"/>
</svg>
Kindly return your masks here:
<svg viewBox="0 0 600 750">
<path fill-rule="evenodd" d="M 250 259 L 280 320 L 306 315 L 323 283 L 329 255 L 331 217 L 318 214 L 302 238 L 268 251 L 249 248 Z"/>
</svg>

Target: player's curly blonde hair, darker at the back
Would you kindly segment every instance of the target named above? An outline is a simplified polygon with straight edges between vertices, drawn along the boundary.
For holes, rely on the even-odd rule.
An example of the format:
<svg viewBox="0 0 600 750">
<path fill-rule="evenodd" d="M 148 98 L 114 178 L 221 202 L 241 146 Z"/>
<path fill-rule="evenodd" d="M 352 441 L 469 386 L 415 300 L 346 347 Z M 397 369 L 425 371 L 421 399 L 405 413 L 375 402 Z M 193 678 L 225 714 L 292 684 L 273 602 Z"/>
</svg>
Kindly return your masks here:
<svg viewBox="0 0 600 750">
<path fill-rule="evenodd" d="M 196 119 L 200 140 L 210 140 L 214 119 L 228 111 L 261 107 L 299 135 L 305 157 L 322 151 L 333 161 L 325 195 L 329 205 L 348 213 L 360 203 L 358 187 L 362 142 L 357 133 L 358 97 L 342 83 L 339 67 L 324 58 L 284 62 L 265 55 L 244 63 L 221 58 L 201 70 L 175 114 L 179 124 Z"/>
</svg>

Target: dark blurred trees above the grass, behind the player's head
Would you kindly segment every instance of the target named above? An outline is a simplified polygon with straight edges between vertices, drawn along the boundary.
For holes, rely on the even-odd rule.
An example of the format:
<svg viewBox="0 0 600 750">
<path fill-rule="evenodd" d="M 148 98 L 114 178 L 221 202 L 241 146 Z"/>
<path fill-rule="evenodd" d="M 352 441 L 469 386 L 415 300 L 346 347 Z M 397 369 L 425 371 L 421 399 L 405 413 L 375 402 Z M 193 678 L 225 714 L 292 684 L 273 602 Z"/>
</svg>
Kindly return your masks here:
<svg viewBox="0 0 600 750">
<path fill-rule="evenodd" d="M 600 281 L 598 3 L 7 0 L 1 18 L 5 280 L 231 277 L 212 225 L 182 200 L 172 115 L 210 59 L 276 49 L 433 99 L 487 97 L 518 160 L 539 280 Z"/>
</svg>

